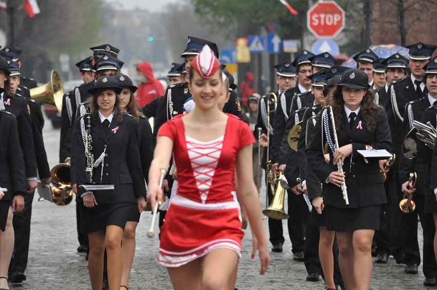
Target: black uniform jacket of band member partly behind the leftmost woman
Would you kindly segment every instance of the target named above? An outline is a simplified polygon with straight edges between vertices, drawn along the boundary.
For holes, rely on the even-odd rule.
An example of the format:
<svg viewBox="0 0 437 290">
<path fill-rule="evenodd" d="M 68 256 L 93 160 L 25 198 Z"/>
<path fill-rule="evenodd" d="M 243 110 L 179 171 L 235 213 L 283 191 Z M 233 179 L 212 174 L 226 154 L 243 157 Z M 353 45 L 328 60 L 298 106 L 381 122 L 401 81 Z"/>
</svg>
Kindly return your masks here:
<svg viewBox="0 0 437 290">
<path fill-rule="evenodd" d="M 33 144 L 32 120 L 30 118 L 30 107 L 26 98 L 13 95 L 3 96 L 6 111 L 12 113 L 18 122 L 19 144 L 23 150 L 26 177 L 36 177 L 36 157 Z"/>
</svg>

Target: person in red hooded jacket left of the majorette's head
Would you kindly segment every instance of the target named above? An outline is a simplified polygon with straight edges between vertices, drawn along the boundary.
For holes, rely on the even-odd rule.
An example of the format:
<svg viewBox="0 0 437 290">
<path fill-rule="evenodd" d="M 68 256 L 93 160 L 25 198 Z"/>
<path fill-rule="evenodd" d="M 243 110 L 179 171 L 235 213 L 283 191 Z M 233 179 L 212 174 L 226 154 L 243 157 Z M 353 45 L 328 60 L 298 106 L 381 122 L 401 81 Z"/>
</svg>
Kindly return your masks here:
<svg viewBox="0 0 437 290">
<path fill-rule="evenodd" d="M 143 108 L 155 98 L 163 96 L 164 88 L 161 82 L 153 76 L 152 67 L 147 61 L 137 65 L 136 72 L 140 81 L 136 91 L 136 99 L 138 106 Z"/>
</svg>

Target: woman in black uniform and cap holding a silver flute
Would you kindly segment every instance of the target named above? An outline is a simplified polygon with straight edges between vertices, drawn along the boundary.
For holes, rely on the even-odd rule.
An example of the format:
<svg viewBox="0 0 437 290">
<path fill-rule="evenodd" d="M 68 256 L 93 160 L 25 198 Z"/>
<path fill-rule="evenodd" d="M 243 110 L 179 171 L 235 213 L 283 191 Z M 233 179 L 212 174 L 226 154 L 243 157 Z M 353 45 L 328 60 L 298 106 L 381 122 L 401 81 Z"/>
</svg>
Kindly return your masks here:
<svg viewBox="0 0 437 290">
<path fill-rule="evenodd" d="M 323 182 L 327 230 L 336 233 L 340 268 L 347 289 L 370 286 L 372 238 L 379 227 L 381 204 L 386 202 L 379 160 L 370 159 L 366 163 L 357 153 L 357 150 L 372 148 L 391 151 L 387 116 L 374 104 L 374 95 L 369 89 L 365 72 L 345 71 L 340 84 L 325 101 L 332 106 L 335 128 L 329 126 L 329 114 L 325 111 L 315 125 L 306 150 L 309 166 Z M 337 131 L 340 147 L 336 150 L 333 130 Z M 329 163 L 323 154 L 326 141 Z M 345 173 L 339 172 L 341 168 Z M 342 185 L 346 185 L 347 194 L 344 191 L 342 194 Z M 349 205 L 345 205 L 345 194 Z"/>
</svg>

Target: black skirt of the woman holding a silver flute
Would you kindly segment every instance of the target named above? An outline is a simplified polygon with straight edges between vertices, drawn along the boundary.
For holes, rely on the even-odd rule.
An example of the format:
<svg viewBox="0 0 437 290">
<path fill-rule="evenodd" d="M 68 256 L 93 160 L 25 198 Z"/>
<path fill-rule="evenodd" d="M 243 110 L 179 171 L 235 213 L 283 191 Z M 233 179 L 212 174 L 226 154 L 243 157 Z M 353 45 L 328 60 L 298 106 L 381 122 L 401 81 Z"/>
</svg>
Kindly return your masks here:
<svg viewBox="0 0 437 290">
<path fill-rule="evenodd" d="M 379 230 L 381 204 L 356 209 L 339 209 L 325 206 L 328 231 L 353 232 L 356 230 Z"/>
</svg>

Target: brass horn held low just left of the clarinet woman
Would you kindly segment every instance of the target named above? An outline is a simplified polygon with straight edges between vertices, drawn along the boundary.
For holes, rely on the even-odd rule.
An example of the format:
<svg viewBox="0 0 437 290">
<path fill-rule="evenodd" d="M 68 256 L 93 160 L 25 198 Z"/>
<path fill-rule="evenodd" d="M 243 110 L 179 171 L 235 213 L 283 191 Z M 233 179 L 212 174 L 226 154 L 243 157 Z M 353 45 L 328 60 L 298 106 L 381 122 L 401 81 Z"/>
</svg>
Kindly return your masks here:
<svg viewBox="0 0 437 290">
<path fill-rule="evenodd" d="M 70 163 L 59 163 L 50 171 L 52 177 L 52 197 L 56 205 L 67 205 L 73 200 L 70 183 Z"/>
</svg>

